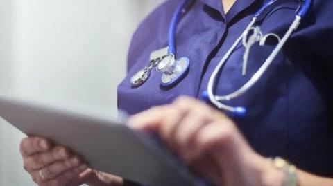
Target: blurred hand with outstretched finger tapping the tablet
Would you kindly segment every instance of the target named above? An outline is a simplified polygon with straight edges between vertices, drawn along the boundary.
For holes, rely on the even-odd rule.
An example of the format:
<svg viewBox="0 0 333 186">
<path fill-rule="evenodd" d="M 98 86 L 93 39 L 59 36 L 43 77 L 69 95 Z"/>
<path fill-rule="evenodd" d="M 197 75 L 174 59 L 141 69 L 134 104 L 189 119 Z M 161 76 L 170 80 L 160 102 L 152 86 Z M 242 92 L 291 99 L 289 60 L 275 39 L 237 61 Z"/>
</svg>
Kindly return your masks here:
<svg viewBox="0 0 333 186">
<path fill-rule="evenodd" d="M 250 148 L 234 122 L 198 100 L 181 97 L 128 123 L 159 133 L 189 167 L 217 185 L 282 185 L 283 172 Z"/>
</svg>

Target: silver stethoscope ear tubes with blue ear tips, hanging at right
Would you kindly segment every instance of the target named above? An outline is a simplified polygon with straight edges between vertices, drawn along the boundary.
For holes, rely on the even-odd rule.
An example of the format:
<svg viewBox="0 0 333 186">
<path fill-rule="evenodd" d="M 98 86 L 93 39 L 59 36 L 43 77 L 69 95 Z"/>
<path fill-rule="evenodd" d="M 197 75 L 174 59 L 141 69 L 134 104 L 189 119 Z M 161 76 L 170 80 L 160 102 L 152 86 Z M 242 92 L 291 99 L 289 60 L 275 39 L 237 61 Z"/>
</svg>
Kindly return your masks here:
<svg viewBox="0 0 333 186">
<path fill-rule="evenodd" d="M 291 26 L 289 27 L 287 32 L 284 34 L 284 37 L 282 37 L 279 44 L 275 47 L 275 49 L 273 50 L 271 55 L 268 56 L 268 58 L 266 59 L 264 64 L 262 64 L 262 66 L 259 68 L 259 70 L 253 75 L 253 77 L 250 78 L 250 80 L 248 80 L 248 82 L 246 82 L 246 84 L 241 86 L 241 88 L 238 89 L 237 91 L 234 91 L 233 93 L 230 93 L 228 95 L 214 95 L 213 90 L 214 90 L 214 84 L 216 82 L 216 77 L 219 74 L 219 72 L 221 71 L 221 68 L 224 66 L 225 62 L 228 60 L 228 58 L 234 51 L 234 49 L 237 47 L 237 45 L 241 41 L 241 39 L 243 39 L 244 35 L 246 35 L 248 30 L 256 24 L 259 17 L 263 13 L 265 13 L 266 10 L 268 10 L 269 8 L 273 8 L 273 6 L 275 6 L 277 3 L 280 3 L 280 2 L 281 2 L 281 0 L 268 1 L 268 3 L 266 3 L 262 8 L 259 9 L 259 11 L 257 11 L 255 13 L 255 16 L 253 17 L 252 21 L 250 21 L 250 24 L 248 24 L 248 26 L 246 27 L 246 30 L 244 30 L 244 32 L 241 34 L 241 36 L 234 42 L 232 47 L 223 56 L 223 58 L 221 59 L 221 61 L 218 64 L 218 66 L 216 66 L 216 68 L 214 69 L 212 75 L 210 76 L 208 85 L 207 85 L 207 92 L 203 93 L 203 97 L 207 97 L 208 100 L 212 104 L 214 104 L 217 108 L 224 110 L 224 111 L 231 112 L 234 115 L 239 116 L 239 117 L 244 117 L 246 115 L 247 109 L 244 106 L 237 106 L 237 107 L 229 106 L 227 104 L 223 104 L 221 101 L 232 100 L 236 97 L 239 97 L 239 96 L 243 95 L 244 93 L 246 93 L 246 91 L 248 91 L 248 89 L 253 87 L 253 85 L 260 79 L 260 77 L 262 77 L 262 75 L 264 74 L 264 72 L 266 71 L 268 66 L 271 65 L 271 63 L 273 62 L 275 57 L 278 55 L 278 53 L 280 52 L 280 50 L 286 43 L 287 39 L 289 39 L 292 32 L 298 28 L 298 26 L 300 24 L 300 20 L 302 19 L 302 17 L 305 16 L 307 11 L 309 10 L 309 7 L 311 6 L 311 0 L 300 0 L 300 8 L 296 12 L 296 18 L 294 19 L 293 23 L 291 24 Z M 270 10 L 268 10 L 268 12 L 269 11 Z"/>
</svg>

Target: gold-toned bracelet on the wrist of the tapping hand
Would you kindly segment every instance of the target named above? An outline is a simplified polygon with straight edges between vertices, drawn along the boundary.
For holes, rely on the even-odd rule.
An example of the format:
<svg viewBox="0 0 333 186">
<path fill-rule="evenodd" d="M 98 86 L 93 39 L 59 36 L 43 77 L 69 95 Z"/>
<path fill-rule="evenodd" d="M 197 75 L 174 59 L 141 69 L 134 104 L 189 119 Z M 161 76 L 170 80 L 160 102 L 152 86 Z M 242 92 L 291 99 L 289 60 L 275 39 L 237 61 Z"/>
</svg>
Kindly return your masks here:
<svg viewBox="0 0 333 186">
<path fill-rule="evenodd" d="M 291 165 L 287 160 L 280 157 L 273 158 L 272 161 L 277 169 L 284 171 L 283 186 L 297 186 L 298 180 L 295 165 Z"/>
</svg>

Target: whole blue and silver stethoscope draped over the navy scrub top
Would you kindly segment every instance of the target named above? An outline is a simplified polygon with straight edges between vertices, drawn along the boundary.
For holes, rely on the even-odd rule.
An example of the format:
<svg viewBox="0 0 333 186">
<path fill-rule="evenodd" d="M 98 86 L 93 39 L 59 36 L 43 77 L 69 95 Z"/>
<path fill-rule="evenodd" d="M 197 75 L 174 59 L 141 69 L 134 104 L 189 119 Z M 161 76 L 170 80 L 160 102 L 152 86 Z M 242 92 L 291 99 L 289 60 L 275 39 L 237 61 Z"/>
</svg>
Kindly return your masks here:
<svg viewBox="0 0 333 186">
<path fill-rule="evenodd" d="M 160 62 L 157 62 L 155 65 L 157 66 L 157 71 L 162 72 L 162 86 L 172 86 L 176 84 L 188 71 L 189 69 L 189 59 L 187 57 L 182 57 L 180 59 L 176 59 L 175 55 L 175 38 L 176 38 L 176 28 L 178 26 L 178 21 L 182 15 L 182 12 L 185 12 L 185 6 L 187 6 L 189 3 L 193 2 L 194 0 L 185 0 L 180 6 L 178 6 L 176 12 L 173 15 L 173 18 L 171 20 L 171 25 L 169 28 L 169 50 L 168 54 L 160 60 Z M 214 71 L 212 75 L 210 76 L 210 80 L 208 81 L 207 85 L 207 91 L 203 92 L 203 97 L 205 100 L 209 100 L 214 106 L 216 106 L 218 109 L 221 109 L 223 111 L 228 111 L 233 113 L 236 116 L 244 116 L 246 115 L 247 109 L 244 106 L 228 106 L 227 104 L 223 104 L 221 101 L 228 101 L 233 100 L 234 98 L 237 98 L 241 95 L 244 95 L 246 91 L 248 91 L 253 85 L 262 77 L 262 75 L 265 73 L 267 68 L 272 64 L 275 57 L 278 55 L 284 44 L 286 43 L 287 39 L 291 36 L 291 34 L 297 30 L 300 20 L 305 17 L 305 14 L 309 10 L 309 7 L 311 6 L 311 0 L 299 0 L 300 6 L 298 10 L 296 10 L 296 17 L 289 26 L 289 29 L 284 34 L 282 38 L 278 37 L 278 35 L 274 33 L 268 33 L 266 35 L 263 35 L 260 26 L 257 25 L 259 22 L 261 22 L 266 15 L 268 15 L 269 12 L 275 8 L 275 6 L 278 6 L 281 3 L 285 3 L 287 1 L 291 0 L 271 0 L 268 1 L 262 8 L 260 8 L 253 17 L 252 21 L 250 21 L 250 24 L 246 27 L 244 32 L 237 38 L 237 40 L 232 44 L 231 48 L 228 50 L 228 52 L 223 56 L 219 64 L 214 68 Z M 214 95 L 214 84 L 216 82 L 216 77 L 221 71 L 221 68 L 225 65 L 225 62 L 227 62 L 228 58 L 234 51 L 234 49 L 239 45 L 239 43 L 242 41 L 244 47 L 246 48 L 244 57 L 243 57 L 243 69 L 242 69 L 242 75 L 246 75 L 246 67 L 247 67 L 247 61 L 248 61 L 248 54 L 250 52 L 250 47 L 253 46 L 256 42 L 259 42 L 259 46 L 264 46 L 266 39 L 268 37 L 275 37 L 278 39 L 278 44 L 275 46 L 274 50 L 272 51 L 271 55 L 269 55 L 266 58 L 266 61 L 262 66 L 260 66 L 259 70 L 250 77 L 250 80 L 246 82 L 243 86 L 241 86 L 240 89 L 237 91 L 234 91 L 228 95 Z M 148 79 L 146 78 L 140 82 L 142 84 Z M 132 81 L 131 81 L 132 82 Z M 132 83 L 133 85 L 133 83 Z"/>
</svg>

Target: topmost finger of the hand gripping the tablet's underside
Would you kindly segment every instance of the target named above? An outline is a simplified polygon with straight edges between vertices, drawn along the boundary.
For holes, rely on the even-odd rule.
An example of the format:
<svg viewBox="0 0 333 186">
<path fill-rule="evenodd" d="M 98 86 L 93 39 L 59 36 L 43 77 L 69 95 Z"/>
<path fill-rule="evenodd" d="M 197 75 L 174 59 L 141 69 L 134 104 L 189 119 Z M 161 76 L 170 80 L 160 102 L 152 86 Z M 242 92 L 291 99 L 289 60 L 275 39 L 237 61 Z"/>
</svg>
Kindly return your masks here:
<svg viewBox="0 0 333 186">
<path fill-rule="evenodd" d="M 40 137 L 26 137 L 21 141 L 20 152 L 22 156 L 31 156 L 37 152 L 47 151 L 51 148 L 51 142 Z"/>
</svg>

